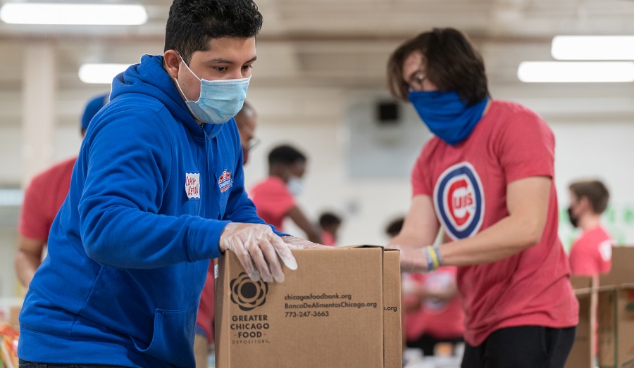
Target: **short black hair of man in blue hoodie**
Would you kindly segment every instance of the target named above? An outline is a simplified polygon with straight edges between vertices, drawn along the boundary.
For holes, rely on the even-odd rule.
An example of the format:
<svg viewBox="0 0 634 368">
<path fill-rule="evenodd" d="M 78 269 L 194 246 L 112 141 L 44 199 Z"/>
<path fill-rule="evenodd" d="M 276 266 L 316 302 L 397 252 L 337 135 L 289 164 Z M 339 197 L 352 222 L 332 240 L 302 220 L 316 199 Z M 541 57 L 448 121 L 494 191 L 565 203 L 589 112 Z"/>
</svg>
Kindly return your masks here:
<svg viewBox="0 0 634 368">
<path fill-rule="evenodd" d="M 262 14 L 251 0 L 174 0 L 164 51 L 178 51 L 189 63 L 194 51 L 209 49 L 210 39 L 256 37 L 262 22 Z"/>
</svg>

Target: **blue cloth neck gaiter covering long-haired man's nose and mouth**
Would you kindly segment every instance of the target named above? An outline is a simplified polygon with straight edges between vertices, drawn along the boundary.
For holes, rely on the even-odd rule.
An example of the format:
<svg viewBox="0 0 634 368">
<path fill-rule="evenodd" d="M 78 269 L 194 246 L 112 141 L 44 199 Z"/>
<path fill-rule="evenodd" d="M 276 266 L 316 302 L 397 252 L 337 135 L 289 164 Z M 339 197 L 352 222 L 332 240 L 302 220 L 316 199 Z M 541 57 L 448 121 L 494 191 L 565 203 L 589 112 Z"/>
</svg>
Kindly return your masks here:
<svg viewBox="0 0 634 368">
<path fill-rule="evenodd" d="M 489 101 L 466 106 L 455 91 L 411 91 L 408 97 L 433 134 L 452 145 L 469 137 Z"/>
</svg>

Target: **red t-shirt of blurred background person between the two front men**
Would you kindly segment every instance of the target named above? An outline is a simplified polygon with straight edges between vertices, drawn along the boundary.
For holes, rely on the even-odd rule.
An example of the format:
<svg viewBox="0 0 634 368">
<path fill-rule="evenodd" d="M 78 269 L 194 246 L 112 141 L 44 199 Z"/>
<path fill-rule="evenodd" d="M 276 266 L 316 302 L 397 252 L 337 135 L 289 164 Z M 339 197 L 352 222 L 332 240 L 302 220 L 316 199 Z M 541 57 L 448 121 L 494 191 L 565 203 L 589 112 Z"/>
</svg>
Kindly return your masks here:
<svg viewBox="0 0 634 368">
<path fill-rule="evenodd" d="M 278 231 L 282 228 L 284 217 L 295 206 L 295 198 L 285 182 L 279 177 L 268 177 L 249 191 L 249 198 L 256 205 L 258 216 Z"/>
</svg>

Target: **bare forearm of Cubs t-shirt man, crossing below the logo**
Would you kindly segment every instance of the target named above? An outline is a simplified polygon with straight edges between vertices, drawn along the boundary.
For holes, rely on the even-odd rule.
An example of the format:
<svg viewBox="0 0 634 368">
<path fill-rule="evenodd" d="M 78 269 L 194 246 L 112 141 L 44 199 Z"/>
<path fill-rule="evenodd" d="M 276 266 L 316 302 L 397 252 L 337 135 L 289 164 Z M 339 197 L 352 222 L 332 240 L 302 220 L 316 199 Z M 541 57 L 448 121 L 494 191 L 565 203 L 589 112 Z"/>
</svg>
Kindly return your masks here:
<svg viewBox="0 0 634 368">
<path fill-rule="evenodd" d="M 523 218 L 504 217 L 471 238 L 439 247 L 442 265 L 466 266 L 495 262 L 534 246 L 540 241 L 543 226 Z"/>
</svg>

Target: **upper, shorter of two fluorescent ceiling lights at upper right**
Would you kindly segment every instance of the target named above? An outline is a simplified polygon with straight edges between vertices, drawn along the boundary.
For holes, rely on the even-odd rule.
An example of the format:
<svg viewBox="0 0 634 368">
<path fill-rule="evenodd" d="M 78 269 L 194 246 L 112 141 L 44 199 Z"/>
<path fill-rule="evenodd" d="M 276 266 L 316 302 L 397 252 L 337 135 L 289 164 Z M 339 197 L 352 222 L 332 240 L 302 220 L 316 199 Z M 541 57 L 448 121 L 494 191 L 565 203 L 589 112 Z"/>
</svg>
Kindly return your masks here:
<svg viewBox="0 0 634 368">
<path fill-rule="evenodd" d="M 634 36 L 555 36 L 557 60 L 634 60 Z"/>
</svg>

